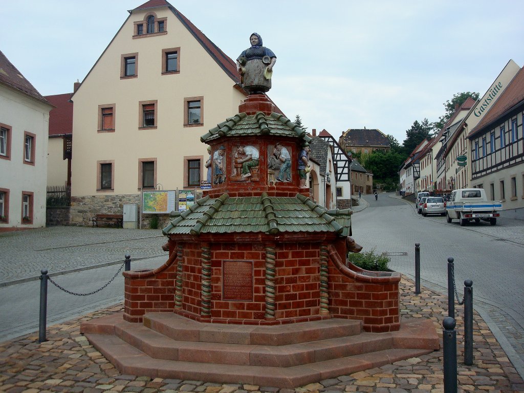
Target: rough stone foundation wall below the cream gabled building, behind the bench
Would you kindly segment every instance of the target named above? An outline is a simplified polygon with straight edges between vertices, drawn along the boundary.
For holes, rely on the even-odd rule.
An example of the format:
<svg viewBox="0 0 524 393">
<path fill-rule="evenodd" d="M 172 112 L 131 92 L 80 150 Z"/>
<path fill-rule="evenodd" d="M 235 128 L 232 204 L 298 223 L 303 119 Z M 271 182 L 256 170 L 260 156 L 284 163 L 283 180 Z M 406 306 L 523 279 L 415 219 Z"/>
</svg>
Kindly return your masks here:
<svg viewBox="0 0 524 393">
<path fill-rule="evenodd" d="M 123 214 L 126 204 L 138 204 L 140 220 L 140 194 L 72 196 L 69 223 L 63 225 L 92 226 L 91 219 L 96 214 Z M 163 228 L 169 223 L 169 214 L 144 214 L 141 217 L 141 227 L 149 229 L 153 217 L 158 217 L 158 228 Z M 137 225 L 140 228 L 140 223 Z"/>
</svg>

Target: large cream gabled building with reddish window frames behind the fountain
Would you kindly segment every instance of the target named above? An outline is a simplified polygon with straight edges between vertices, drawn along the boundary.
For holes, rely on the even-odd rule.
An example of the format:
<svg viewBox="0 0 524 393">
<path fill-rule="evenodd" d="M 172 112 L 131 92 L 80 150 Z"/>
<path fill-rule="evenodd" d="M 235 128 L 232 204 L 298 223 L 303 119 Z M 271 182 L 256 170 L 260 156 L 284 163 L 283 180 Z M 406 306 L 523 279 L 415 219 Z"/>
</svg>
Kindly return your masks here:
<svg viewBox="0 0 524 393">
<path fill-rule="evenodd" d="M 238 83 L 235 62 L 169 3 L 130 10 L 72 96 L 71 224 L 122 213 L 141 189 L 199 190 L 200 136 L 238 112 Z"/>
</svg>

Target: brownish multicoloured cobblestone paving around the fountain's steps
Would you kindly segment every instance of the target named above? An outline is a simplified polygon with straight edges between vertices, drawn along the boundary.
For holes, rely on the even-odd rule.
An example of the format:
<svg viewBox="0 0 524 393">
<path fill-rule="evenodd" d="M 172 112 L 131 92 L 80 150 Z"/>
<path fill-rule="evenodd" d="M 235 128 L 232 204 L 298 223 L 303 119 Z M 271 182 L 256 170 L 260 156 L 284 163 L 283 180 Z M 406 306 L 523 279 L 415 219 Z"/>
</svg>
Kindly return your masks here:
<svg viewBox="0 0 524 393">
<path fill-rule="evenodd" d="M 427 288 L 414 294 L 410 279 L 402 278 L 401 314 L 410 318 L 428 318 L 442 337 L 446 299 Z M 205 392 L 205 393 L 306 393 L 306 392 L 443 392 L 442 350 L 410 358 L 364 372 L 321 380 L 297 389 L 215 384 L 198 380 L 151 379 L 122 375 L 80 334 L 82 321 L 122 310 L 122 304 L 99 310 L 48 329 L 49 341 L 38 343 L 30 334 L 0 343 L 0 392 Z M 524 391 L 524 381 L 512 367 L 506 354 L 478 313 L 474 313 L 474 364 L 463 362 L 463 315 L 457 312 L 457 384 L 459 391 Z"/>
</svg>

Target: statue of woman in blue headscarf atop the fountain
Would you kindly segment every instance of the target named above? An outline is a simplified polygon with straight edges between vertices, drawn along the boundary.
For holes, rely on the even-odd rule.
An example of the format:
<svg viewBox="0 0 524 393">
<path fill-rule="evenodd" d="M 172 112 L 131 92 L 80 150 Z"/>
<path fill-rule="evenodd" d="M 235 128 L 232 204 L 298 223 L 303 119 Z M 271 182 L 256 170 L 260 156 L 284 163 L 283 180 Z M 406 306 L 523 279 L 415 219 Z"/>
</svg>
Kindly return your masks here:
<svg viewBox="0 0 524 393">
<path fill-rule="evenodd" d="M 277 61 L 271 49 L 262 46 L 262 37 L 253 33 L 251 47 L 236 59 L 236 68 L 242 76 L 242 85 L 249 94 L 264 94 L 271 89 L 271 75 Z"/>
</svg>

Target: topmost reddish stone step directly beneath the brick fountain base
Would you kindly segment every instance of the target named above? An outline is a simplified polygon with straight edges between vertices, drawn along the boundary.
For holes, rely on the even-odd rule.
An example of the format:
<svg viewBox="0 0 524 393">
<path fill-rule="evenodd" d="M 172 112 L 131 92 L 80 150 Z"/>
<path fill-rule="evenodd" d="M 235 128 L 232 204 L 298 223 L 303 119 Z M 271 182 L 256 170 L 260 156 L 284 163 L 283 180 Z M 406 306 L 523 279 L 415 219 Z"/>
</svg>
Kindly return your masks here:
<svg viewBox="0 0 524 393">
<path fill-rule="evenodd" d="M 273 326 L 202 323 L 173 313 L 146 313 L 144 325 L 178 341 L 287 345 L 360 334 L 362 321 L 328 319 Z"/>
</svg>

